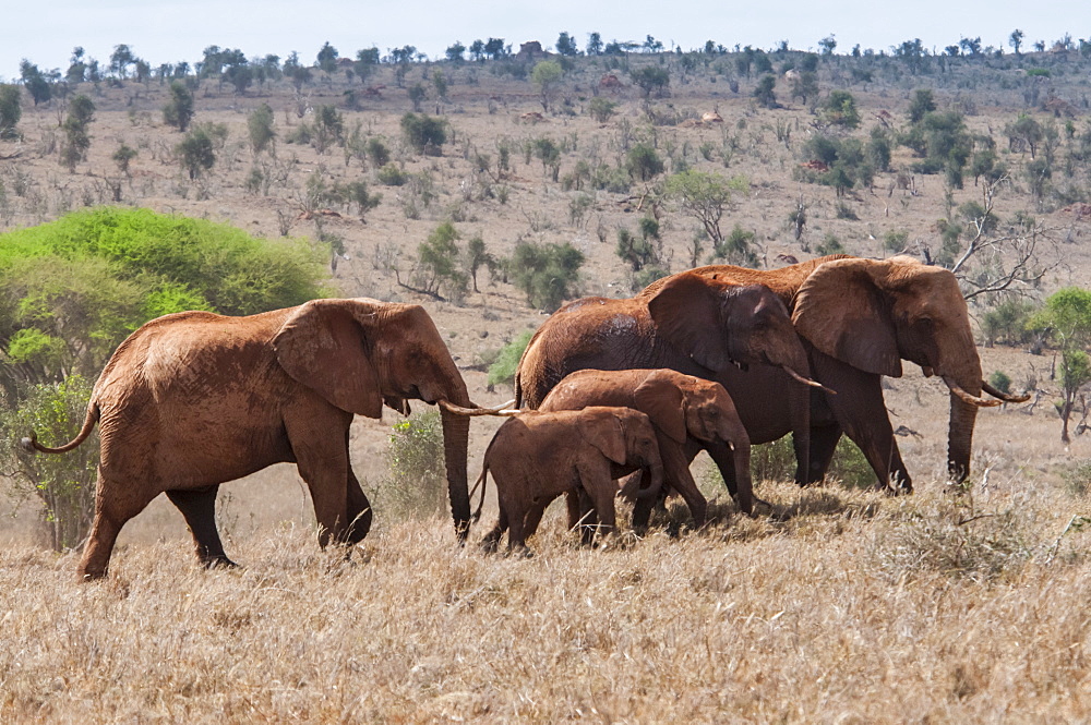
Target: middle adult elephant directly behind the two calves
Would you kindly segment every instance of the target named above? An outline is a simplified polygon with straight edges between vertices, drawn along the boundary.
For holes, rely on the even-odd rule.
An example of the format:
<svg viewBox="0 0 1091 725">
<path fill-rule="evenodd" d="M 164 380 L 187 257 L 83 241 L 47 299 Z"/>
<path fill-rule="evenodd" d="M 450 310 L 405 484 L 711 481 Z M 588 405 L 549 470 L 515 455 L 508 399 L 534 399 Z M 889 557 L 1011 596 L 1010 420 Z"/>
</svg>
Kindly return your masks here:
<svg viewBox="0 0 1091 725">
<path fill-rule="evenodd" d="M 747 398 L 739 414 L 752 443 L 784 431 L 756 425 L 763 406 L 786 409 L 803 481 L 810 460 L 811 378 L 806 350 L 788 307 L 759 283 L 680 273 L 659 280 L 652 293 L 609 300 L 584 298 L 561 307 L 531 337 L 515 375 L 516 404 L 538 408 L 561 380 L 578 370 L 670 368 L 728 385 L 728 373 L 746 379 L 776 371 L 778 386 Z M 730 378 L 738 379 L 738 378 Z M 735 403 L 738 406 L 738 401 Z M 774 435 L 774 433 L 776 435 Z M 741 510 L 752 512 L 750 482 L 741 493 L 727 446 L 708 448 Z"/>
</svg>

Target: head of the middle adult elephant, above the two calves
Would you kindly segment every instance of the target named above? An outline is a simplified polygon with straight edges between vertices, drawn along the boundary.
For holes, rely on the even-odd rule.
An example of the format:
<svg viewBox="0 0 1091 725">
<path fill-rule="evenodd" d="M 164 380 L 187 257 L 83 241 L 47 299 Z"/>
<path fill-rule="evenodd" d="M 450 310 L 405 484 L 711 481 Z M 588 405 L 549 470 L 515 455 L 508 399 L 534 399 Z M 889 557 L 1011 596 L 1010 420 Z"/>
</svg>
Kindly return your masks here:
<svg viewBox="0 0 1091 725">
<path fill-rule="evenodd" d="M 775 365 L 817 385 L 788 310 L 763 285 L 681 273 L 648 299 L 648 311 L 668 342 L 710 371 Z"/>
</svg>

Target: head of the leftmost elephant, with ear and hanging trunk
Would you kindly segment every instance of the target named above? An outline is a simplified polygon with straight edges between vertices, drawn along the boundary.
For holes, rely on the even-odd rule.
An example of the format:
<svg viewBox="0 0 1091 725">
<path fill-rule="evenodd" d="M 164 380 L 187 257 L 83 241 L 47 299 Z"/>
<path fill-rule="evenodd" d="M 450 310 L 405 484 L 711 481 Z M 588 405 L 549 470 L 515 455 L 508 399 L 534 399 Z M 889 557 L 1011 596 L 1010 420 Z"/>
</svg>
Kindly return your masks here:
<svg viewBox="0 0 1091 725">
<path fill-rule="evenodd" d="M 408 414 L 409 399 L 472 408 L 458 368 L 428 313 L 374 300 L 312 300 L 273 338 L 276 359 L 296 382 L 350 413 Z M 469 419 L 441 409 L 451 512 L 460 539 L 469 524 L 466 448 Z"/>
</svg>

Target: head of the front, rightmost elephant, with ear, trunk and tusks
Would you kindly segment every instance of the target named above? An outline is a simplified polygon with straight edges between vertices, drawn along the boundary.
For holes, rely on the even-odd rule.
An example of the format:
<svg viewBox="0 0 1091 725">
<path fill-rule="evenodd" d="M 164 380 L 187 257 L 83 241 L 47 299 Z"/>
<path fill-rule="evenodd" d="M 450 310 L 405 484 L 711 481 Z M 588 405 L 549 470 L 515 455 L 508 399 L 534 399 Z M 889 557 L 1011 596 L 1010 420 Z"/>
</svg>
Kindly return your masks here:
<svg viewBox="0 0 1091 725">
<path fill-rule="evenodd" d="M 980 397 L 981 360 L 955 275 L 906 256 L 827 262 L 800 288 L 793 321 L 816 349 L 853 367 L 899 377 L 909 360 L 939 376 L 950 389 L 948 470 L 966 479 L 978 408 L 999 401 Z"/>
</svg>

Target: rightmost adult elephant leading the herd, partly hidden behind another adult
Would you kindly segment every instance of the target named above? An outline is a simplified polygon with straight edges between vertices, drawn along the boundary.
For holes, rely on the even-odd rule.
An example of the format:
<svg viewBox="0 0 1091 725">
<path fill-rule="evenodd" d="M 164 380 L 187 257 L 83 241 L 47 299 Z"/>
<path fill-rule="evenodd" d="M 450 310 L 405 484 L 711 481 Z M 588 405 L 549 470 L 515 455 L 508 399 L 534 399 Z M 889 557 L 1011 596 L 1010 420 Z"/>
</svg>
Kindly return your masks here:
<svg viewBox="0 0 1091 725">
<path fill-rule="evenodd" d="M 956 482 L 970 471 L 978 408 L 1027 399 L 1002 394 L 982 379 L 966 301 L 947 269 L 908 256 L 876 261 L 837 255 L 765 271 L 721 265 L 684 274 L 764 285 L 777 293 L 791 310 L 815 379 L 838 394 L 812 395 L 811 460 L 801 483 L 823 479 L 844 433 L 860 446 L 880 486 L 912 490 L 880 386 L 883 375 L 901 376 L 902 360 L 939 377 L 949 389 L 947 466 Z M 637 297 L 650 302 L 670 285 L 670 278 L 659 280 Z M 790 430 L 790 412 L 776 395 L 788 382 L 781 373 L 726 370 L 719 380 L 754 443 Z M 981 398 L 983 390 L 998 400 Z"/>
</svg>

